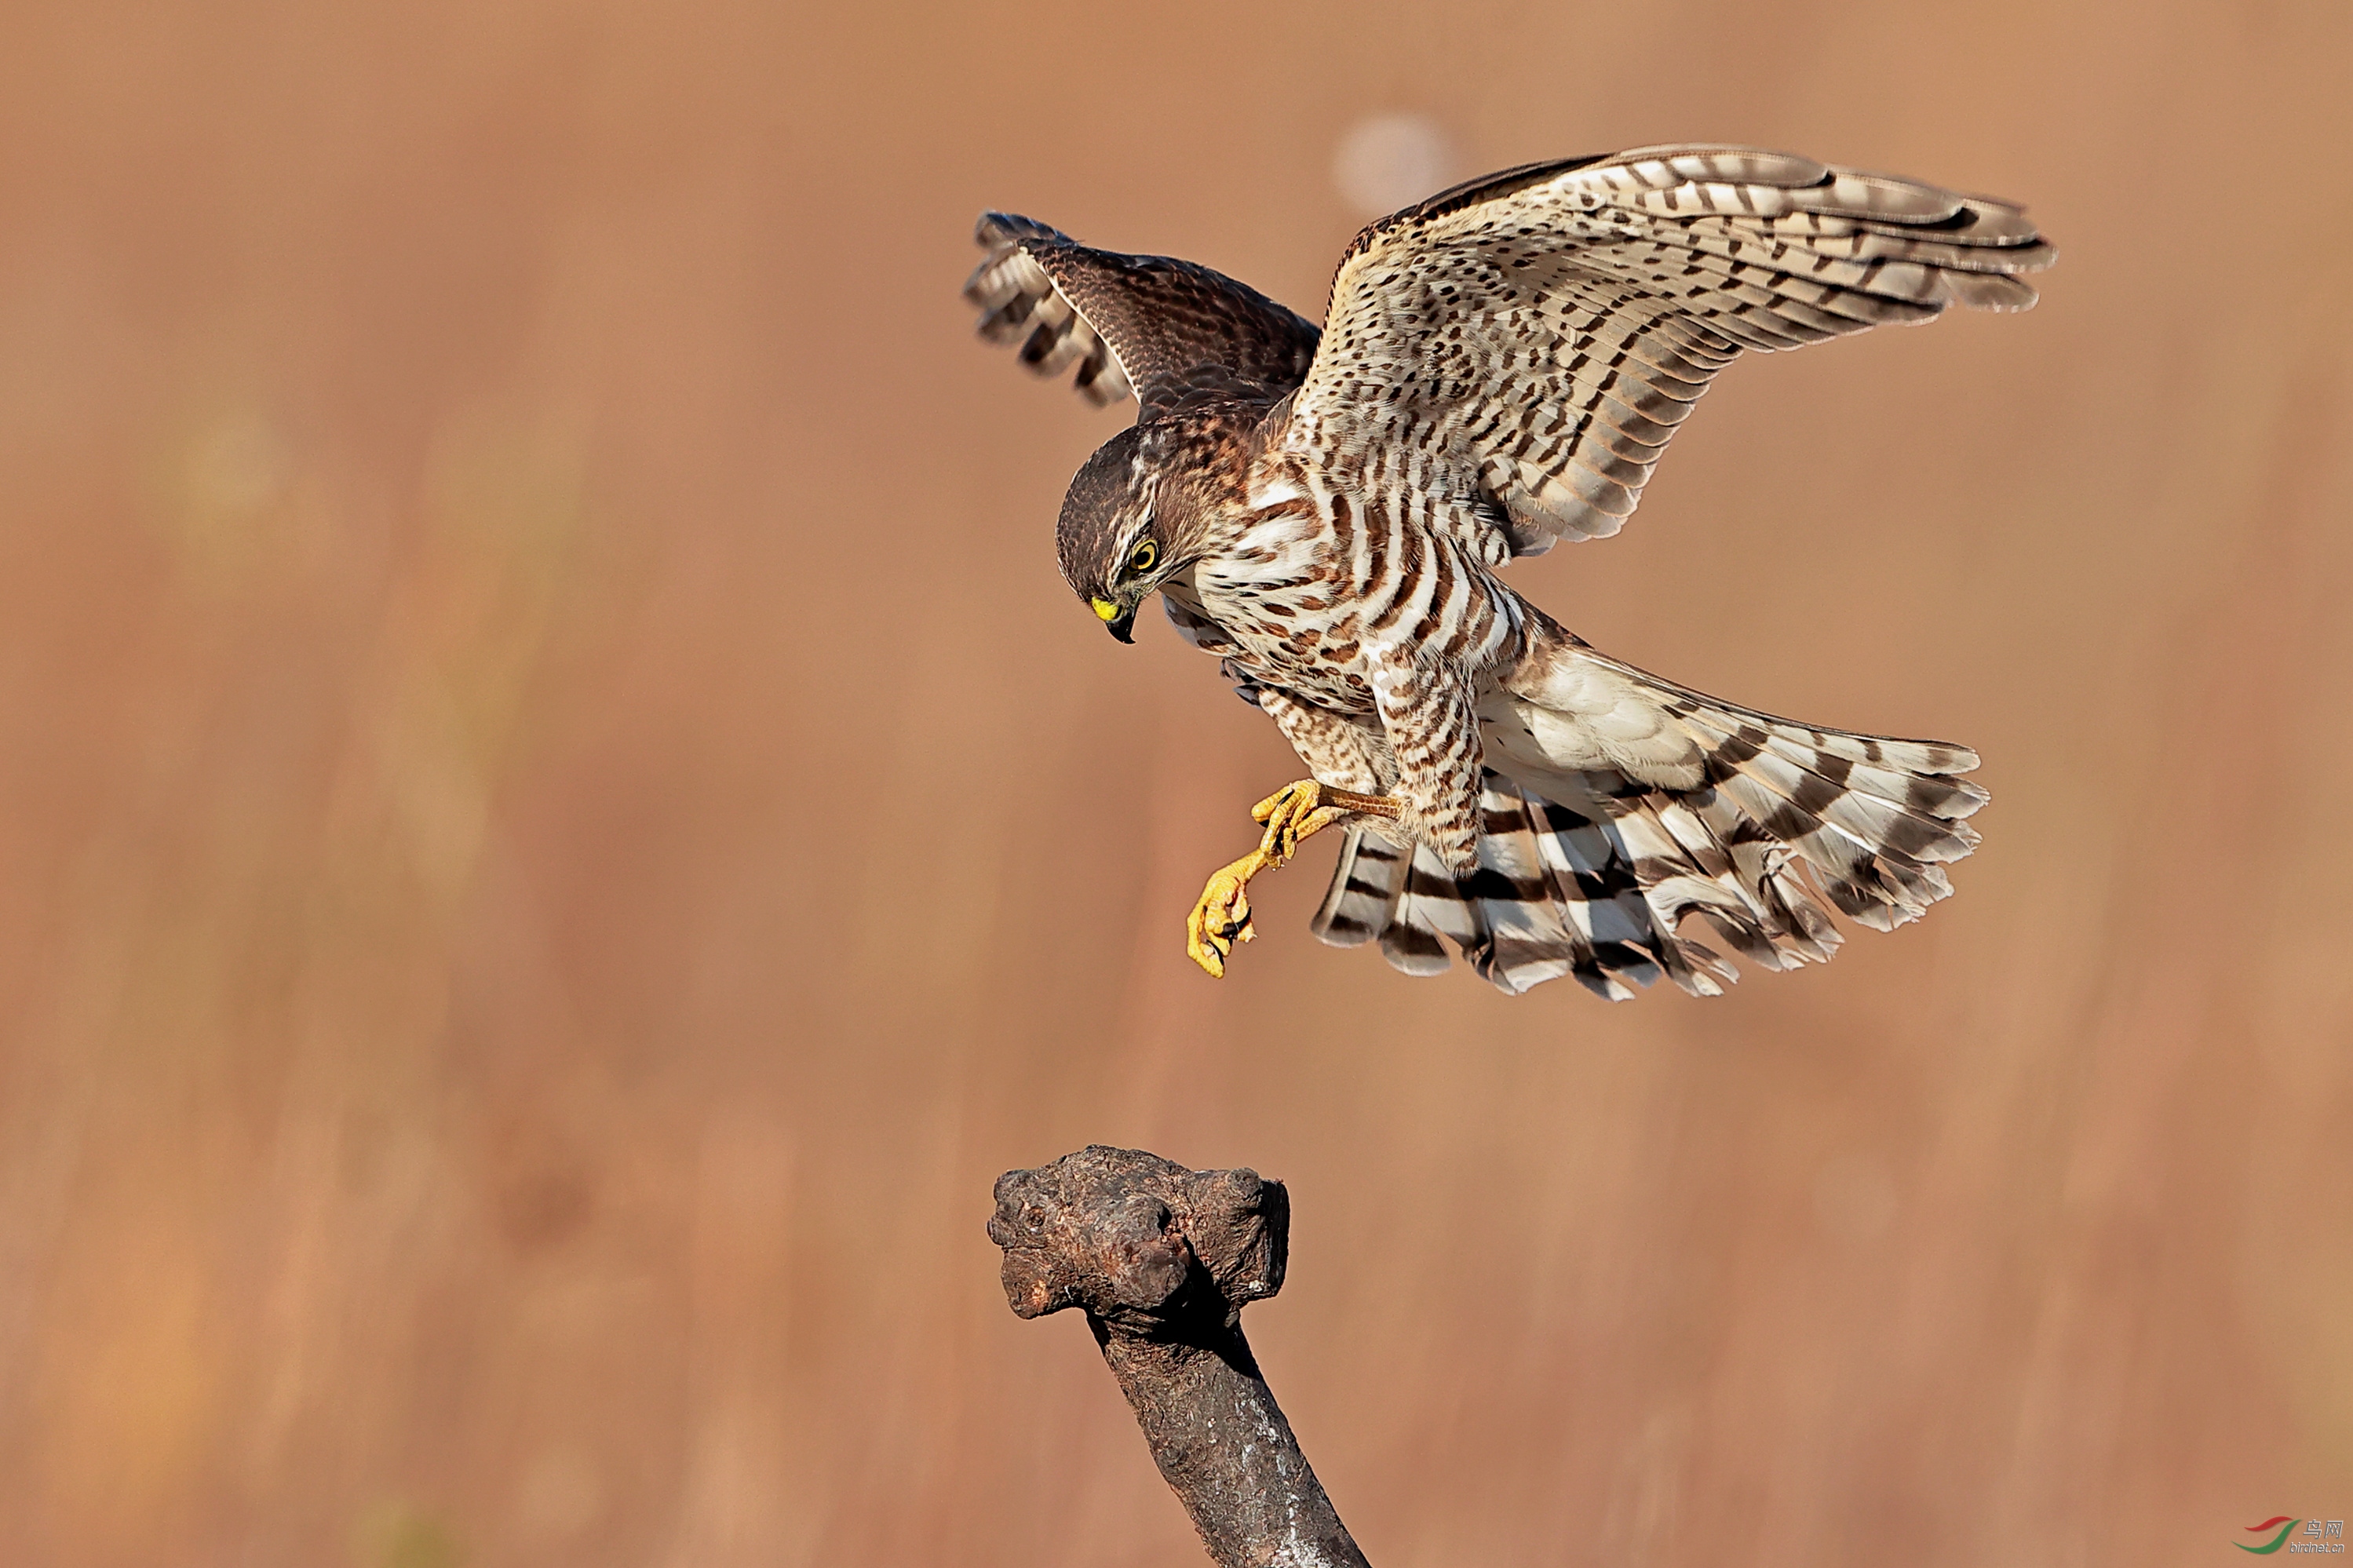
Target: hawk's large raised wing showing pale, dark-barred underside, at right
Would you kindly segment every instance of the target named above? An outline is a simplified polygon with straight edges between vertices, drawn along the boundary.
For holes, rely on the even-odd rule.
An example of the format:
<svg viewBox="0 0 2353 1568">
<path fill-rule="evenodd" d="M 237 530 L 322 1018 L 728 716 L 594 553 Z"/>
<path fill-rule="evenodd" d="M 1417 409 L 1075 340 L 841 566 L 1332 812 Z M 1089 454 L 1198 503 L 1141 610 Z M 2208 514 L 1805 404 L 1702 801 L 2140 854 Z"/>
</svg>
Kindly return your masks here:
<svg viewBox="0 0 2353 1568">
<path fill-rule="evenodd" d="M 1327 464 L 1405 452 L 1386 473 L 1482 497 L 1532 556 L 1614 534 L 1744 348 L 2024 311 L 2019 273 L 2049 261 L 2019 207 L 1788 153 L 1506 170 L 1355 238 L 1287 440 Z"/>
</svg>

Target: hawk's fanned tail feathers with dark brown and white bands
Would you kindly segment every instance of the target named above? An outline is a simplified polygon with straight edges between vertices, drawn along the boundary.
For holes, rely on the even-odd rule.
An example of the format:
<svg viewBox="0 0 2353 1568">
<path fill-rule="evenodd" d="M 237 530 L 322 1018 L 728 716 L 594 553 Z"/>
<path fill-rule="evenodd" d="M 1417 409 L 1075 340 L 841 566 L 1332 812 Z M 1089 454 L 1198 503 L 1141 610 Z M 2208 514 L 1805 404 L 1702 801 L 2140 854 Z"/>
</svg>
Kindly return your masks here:
<svg viewBox="0 0 2353 1568">
<path fill-rule="evenodd" d="M 1720 996 L 1739 972 L 1680 935 L 1687 916 L 1758 968 L 1791 970 L 1838 951 L 1824 899 L 1887 930 L 1951 895 L 1944 862 L 1977 845 L 1962 817 L 1986 803 L 1951 777 L 1977 765 L 1972 751 L 1817 730 L 1645 680 L 1701 742 L 1701 784 L 1595 770 L 1555 772 L 1537 793 L 1487 770 L 1478 871 L 1454 878 L 1431 850 L 1353 826 L 1313 932 L 1334 946 L 1379 939 L 1407 975 L 1445 970 L 1447 937 L 1508 994 L 1572 975 L 1626 1001 L 1666 975 Z"/>
</svg>

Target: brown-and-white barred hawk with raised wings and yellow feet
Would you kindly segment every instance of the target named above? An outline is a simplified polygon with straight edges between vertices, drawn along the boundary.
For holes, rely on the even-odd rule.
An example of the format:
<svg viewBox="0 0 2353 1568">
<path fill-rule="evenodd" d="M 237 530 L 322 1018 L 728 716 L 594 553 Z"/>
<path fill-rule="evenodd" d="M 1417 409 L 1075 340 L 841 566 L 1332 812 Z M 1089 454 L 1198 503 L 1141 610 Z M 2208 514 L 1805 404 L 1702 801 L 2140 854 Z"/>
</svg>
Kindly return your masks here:
<svg viewBox="0 0 2353 1568">
<path fill-rule="evenodd" d="M 1167 257 L 988 212 L 981 337 L 1136 421 L 1078 471 L 1061 574 L 1127 643 L 1153 591 L 1299 751 L 1186 951 L 1224 975 L 1252 876 L 1344 826 L 1313 930 L 1409 972 L 1440 937 L 1504 991 L 1666 975 L 1880 930 L 1977 845 L 1977 753 L 1793 723 L 1593 650 L 1504 584 L 1614 534 L 1744 351 L 1946 306 L 2024 311 L 2049 245 L 2007 202 L 1739 146 L 1534 162 L 1367 226 L 1325 325 Z"/>
</svg>

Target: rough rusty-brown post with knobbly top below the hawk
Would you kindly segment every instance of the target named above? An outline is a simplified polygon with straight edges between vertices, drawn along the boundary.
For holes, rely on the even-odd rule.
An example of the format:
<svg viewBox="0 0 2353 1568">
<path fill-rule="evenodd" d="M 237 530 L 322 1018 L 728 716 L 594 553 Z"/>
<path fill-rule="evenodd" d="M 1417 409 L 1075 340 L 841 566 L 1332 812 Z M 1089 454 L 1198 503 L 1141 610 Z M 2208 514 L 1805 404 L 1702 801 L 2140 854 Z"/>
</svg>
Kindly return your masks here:
<svg viewBox="0 0 2353 1568">
<path fill-rule="evenodd" d="M 1282 1288 L 1292 1205 L 1257 1170 L 1094 1144 L 998 1177 L 1005 1300 L 1087 1314 L 1162 1479 L 1219 1568 L 1369 1568 L 1242 1340 Z"/>
</svg>

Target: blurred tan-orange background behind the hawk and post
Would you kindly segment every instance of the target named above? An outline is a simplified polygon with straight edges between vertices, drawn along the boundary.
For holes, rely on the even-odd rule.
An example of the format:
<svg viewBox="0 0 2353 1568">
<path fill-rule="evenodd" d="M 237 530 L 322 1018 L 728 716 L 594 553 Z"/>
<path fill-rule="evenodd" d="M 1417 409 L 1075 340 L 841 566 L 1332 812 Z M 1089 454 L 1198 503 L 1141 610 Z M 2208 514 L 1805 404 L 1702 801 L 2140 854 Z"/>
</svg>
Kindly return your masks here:
<svg viewBox="0 0 2353 1568">
<path fill-rule="evenodd" d="M 2209 1563 L 2353 1516 L 2344 5 L 9 9 L 0 1561 L 1195 1563 L 988 1184 L 1292 1184 L 1384 1568 Z M 1320 311 L 1341 158 L 2033 205 L 1520 584 L 1948 735 L 1960 897 L 1734 996 L 1308 939 L 1297 770 L 1052 567 L 974 212 Z M 1353 144 L 1362 148 L 1362 144 Z M 1445 167 L 1435 167 L 1445 165 Z M 1433 179 L 1433 184 L 1442 184 Z"/>
</svg>

